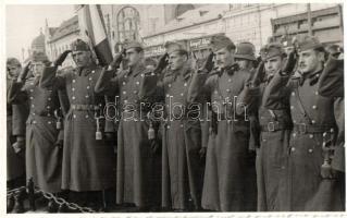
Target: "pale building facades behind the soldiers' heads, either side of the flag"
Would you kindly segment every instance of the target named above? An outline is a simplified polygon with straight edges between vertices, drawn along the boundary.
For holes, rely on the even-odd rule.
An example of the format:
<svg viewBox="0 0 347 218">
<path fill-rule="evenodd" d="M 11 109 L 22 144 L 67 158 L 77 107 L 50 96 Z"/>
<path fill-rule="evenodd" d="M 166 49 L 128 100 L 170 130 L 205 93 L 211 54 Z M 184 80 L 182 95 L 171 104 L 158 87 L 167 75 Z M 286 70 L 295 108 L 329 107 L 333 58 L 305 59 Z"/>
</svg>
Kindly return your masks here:
<svg viewBox="0 0 347 218">
<path fill-rule="evenodd" d="M 102 4 L 107 35 L 112 52 L 128 40 L 141 41 L 146 57 L 159 57 L 164 43 L 179 40 L 196 59 L 209 52 L 211 36 L 224 34 L 235 44 L 250 41 L 256 50 L 270 37 L 308 33 L 308 4 Z M 312 3 L 312 34 L 323 43 L 343 41 L 342 12 L 338 4 Z M 334 33 L 334 34 L 330 34 Z M 79 36 L 77 15 L 59 27 L 46 25 L 46 52 L 50 60 L 70 48 Z M 67 59 L 64 65 L 71 65 Z"/>
</svg>

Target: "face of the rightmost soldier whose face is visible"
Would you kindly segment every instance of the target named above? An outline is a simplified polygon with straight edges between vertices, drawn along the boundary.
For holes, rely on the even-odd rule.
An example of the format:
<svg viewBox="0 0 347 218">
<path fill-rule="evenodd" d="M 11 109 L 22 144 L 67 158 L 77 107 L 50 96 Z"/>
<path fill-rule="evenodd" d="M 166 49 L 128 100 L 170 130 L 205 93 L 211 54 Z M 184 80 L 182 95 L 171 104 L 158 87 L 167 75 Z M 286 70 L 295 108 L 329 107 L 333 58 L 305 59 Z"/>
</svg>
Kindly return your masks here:
<svg viewBox="0 0 347 218">
<path fill-rule="evenodd" d="M 322 68 L 324 53 L 313 49 L 299 52 L 298 70 L 306 74 L 317 72 Z"/>
</svg>

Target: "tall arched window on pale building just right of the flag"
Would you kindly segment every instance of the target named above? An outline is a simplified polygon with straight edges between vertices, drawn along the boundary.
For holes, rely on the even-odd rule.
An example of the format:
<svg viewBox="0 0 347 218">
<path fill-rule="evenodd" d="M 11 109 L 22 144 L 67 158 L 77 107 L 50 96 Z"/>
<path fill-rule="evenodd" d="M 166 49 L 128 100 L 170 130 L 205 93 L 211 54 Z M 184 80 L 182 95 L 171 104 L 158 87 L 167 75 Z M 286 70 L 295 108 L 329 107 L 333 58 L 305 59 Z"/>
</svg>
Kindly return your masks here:
<svg viewBox="0 0 347 218">
<path fill-rule="evenodd" d="M 133 7 L 123 8 L 117 14 L 119 40 L 137 40 L 139 29 L 139 13 Z"/>
</svg>

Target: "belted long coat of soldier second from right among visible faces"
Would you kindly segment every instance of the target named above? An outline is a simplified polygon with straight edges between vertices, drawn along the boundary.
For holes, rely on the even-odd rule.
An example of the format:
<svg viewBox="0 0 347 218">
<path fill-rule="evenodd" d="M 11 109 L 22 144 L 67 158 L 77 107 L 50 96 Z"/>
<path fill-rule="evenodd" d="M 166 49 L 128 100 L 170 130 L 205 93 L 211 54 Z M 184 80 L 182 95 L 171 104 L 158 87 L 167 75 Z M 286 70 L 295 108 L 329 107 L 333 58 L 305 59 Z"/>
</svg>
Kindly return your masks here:
<svg viewBox="0 0 347 218">
<path fill-rule="evenodd" d="M 246 87 L 246 92 L 238 102 L 258 108 L 256 131 L 259 131 L 260 147 L 257 149 L 257 187 L 259 211 L 286 211 L 287 194 L 286 168 L 287 150 L 292 131 L 290 111 L 288 111 L 287 99 L 278 102 L 276 110 L 264 107 L 269 84 L 272 76 L 258 87 Z"/>
</svg>

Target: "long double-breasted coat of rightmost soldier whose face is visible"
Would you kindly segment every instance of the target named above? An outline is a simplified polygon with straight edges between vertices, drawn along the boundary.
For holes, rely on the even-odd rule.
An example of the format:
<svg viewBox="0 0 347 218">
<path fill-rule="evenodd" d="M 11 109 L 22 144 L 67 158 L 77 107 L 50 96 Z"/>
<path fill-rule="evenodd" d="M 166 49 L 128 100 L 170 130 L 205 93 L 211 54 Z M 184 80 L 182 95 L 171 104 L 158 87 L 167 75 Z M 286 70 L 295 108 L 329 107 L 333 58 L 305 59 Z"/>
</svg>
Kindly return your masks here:
<svg viewBox="0 0 347 218">
<path fill-rule="evenodd" d="M 319 95 L 318 80 L 321 73 L 322 71 L 319 71 L 293 77 L 277 73 L 269 87 L 269 98 L 265 100 L 269 109 L 276 109 L 280 99 L 289 97 L 294 123 L 287 169 L 289 210 L 330 210 L 315 205 L 313 201 L 324 182 L 321 177 L 324 159 L 322 135 L 323 132 L 336 132 L 336 99 Z M 321 197 L 324 198 L 324 195 Z"/>
</svg>

